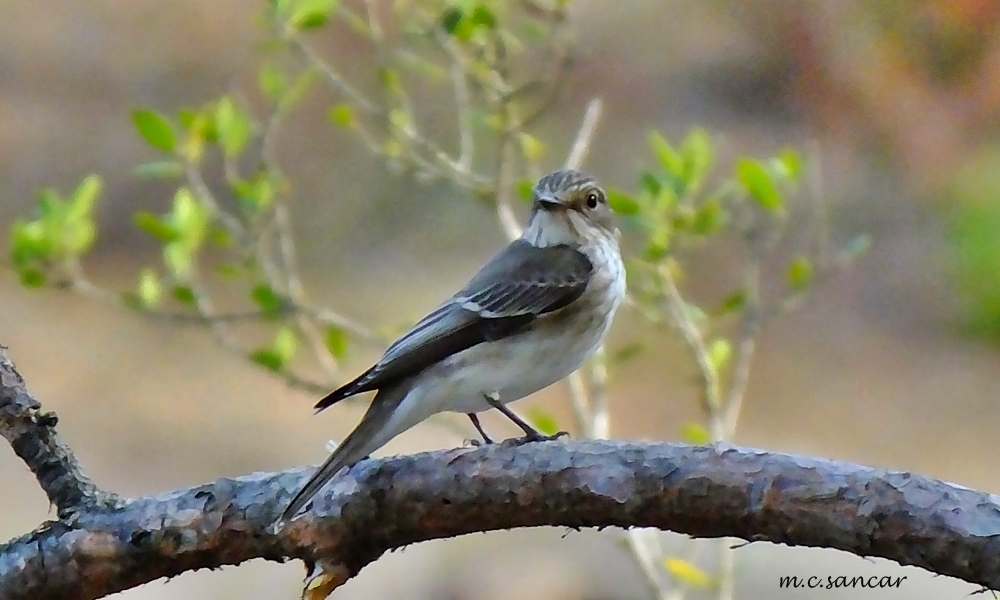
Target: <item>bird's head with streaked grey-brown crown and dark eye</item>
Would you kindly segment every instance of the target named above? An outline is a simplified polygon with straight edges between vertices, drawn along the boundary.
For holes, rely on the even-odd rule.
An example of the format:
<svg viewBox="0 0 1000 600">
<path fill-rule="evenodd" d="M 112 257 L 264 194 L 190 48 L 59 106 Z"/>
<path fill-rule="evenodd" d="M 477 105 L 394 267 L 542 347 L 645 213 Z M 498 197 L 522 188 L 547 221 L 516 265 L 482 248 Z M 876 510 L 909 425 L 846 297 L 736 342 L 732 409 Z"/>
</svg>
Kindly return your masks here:
<svg viewBox="0 0 1000 600">
<path fill-rule="evenodd" d="M 538 180 L 531 194 L 531 218 L 522 236 L 536 246 L 581 245 L 617 240 L 607 194 L 591 175 L 561 169 Z"/>
</svg>

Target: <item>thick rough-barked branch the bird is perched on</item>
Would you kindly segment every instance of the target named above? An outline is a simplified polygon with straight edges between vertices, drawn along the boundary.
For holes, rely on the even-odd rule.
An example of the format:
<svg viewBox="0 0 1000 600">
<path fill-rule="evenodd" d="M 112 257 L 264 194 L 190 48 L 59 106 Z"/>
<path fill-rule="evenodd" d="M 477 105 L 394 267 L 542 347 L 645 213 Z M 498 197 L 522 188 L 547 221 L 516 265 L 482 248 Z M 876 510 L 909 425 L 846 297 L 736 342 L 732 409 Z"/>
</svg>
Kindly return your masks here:
<svg viewBox="0 0 1000 600">
<path fill-rule="evenodd" d="M 0 385 L 4 436 L 17 430 L 8 439 L 61 516 L 76 507 L 72 519 L 0 546 L 5 599 L 99 598 L 253 558 L 319 563 L 339 585 L 387 550 L 544 525 L 838 548 L 1000 589 L 1000 498 L 910 473 L 731 447 L 508 442 L 366 460 L 279 532 L 271 524 L 305 470 L 122 504 L 82 501 L 112 496 L 80 473 L 6 358 Z"/>
</svg>

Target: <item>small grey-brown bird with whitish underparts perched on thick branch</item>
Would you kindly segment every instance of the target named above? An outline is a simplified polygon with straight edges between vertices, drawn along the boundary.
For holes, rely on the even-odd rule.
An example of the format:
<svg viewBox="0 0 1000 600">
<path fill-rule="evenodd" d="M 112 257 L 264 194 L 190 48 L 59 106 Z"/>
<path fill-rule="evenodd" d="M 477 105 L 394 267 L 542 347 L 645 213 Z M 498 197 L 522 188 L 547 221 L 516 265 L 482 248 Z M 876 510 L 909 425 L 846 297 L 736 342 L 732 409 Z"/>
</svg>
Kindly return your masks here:
<svg viewBox="0 0 1000 600">
<path fill-rule="evenodd" d="M 469 282 L 391 344 L 316 412 L 375 391 L 357 427 L 298 491 L 278 521 L 291 521 L 342 469 L 441 412 L 465 413 L 486 444 L 478 414 L 496 409 L 551 440 L 506 405 L 563 379 L 604 340 L 625 298 L 621 237 L 597 180 L 561 169 L 532 188 L 521 236 Z"/>
</svg>

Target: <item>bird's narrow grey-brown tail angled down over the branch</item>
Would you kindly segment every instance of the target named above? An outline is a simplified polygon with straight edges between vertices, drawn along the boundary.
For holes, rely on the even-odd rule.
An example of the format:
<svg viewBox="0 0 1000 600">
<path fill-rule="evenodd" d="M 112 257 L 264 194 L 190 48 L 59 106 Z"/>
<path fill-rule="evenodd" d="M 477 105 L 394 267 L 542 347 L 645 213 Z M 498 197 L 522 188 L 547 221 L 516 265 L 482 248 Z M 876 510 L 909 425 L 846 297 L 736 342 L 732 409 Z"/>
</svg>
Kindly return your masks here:
<svg viewBox="0 0 1000 600">
<path fill-rule="evenodd" d="M 344 438 L 344 441 L 295 494 L 288 508 L 281 513 L 279 527 L 295 518 L 295 515 L 305 508 L 313 496 L 318 494 L 341 469 L 353 467 L 401 433 L 401 431 L 387 431 L 385 426 L 408 391 L 403 387 L 379 390 L 365 416 L 362 417 L 361 423 Z"/>
</svg>

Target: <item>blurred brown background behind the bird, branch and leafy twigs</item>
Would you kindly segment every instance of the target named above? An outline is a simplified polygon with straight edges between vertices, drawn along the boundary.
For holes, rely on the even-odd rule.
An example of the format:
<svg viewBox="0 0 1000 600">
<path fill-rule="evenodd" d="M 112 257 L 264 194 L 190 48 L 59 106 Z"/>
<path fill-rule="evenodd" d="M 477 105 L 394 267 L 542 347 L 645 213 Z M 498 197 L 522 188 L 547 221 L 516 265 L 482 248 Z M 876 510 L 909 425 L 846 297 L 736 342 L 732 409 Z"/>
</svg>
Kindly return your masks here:
<svg viewBox="0 0 1000 600">
<path fill-rule="evenodd" d="M 34 0 L 0 5 L 0 237 L 43 186 L 88 173 L 106 188 L 86 265 L 132 286 L 157 247 L 137 210 L 170 188 L 137 179 L 155 158 L 136 106 L 173 112 L 254 85 L 262 3 Z M 800 148 L 822 167 L 832 236 L 873 245 L 760 340 L 741 445 L 912 470 L 1000 491 L 1000 4 L 826 0 L 578 0 L 579 47 L 558 109 L 539 123 L 543 162 L 561 163 L 586 102 L 604 115 L 586 167 L 630 187 L 645 136 L 706 128 L 725 158 Z M 370 49 L 327 32 L 339 64 Z M 324 117 L 329 96 L 288 123 L 280 161 L 295 184 L 304 278 L 319 302 L 367 323 L 412 321 L 504 243 L 491 209 L 442 186 L 393 178 Z M 443 114 L 442 119 L 451 115 Z M 563 144 L 560 146 L 560 144 Z M 6 243 L 5 243 L 6 246 Z M 696 262 L 713 290 L 719 257 Z M 307 394 L 219 349 L 195 327 L 144 320 L 70 293 L 27 291 L 0 274 L 0 343 L 94 480 L 148 494 L 318 462 L 363 405 L 313 417 Z M 621 313 L 612 346 L 653 350 L 611 374 L 612 430 L 676 440 L 698 419 L 694 369 L 666 333 Z M 379 349 L 358 347 L 345 376 Z M 566 414 L 555 386 L 519 408 Z M 488 428 L 508 431 L 489 416 Z M 471 435 L 471 433 L 470 433 Z M 455 446 L 424 426 L 385 453 Z M 24 465 L 0 449 L 0 538 L 53 516 Z M 386 556 L 337 598 L 648 598 L 614 533 L 518 531 L 421 544 Z M 679 537 L 671 540 L 681 547 Z M 975 590 L 913 568 L 835 551 L 754 544 L 736 552 L 738 598 L 939 598 Z M 892 574 L 897 590 L 778 589 L 781 575 Z M 293 598 L 301 565 L 254 562 L 121 594 Z M 812 594 L 812 595 L 810 595 Z"/>
</svg>

